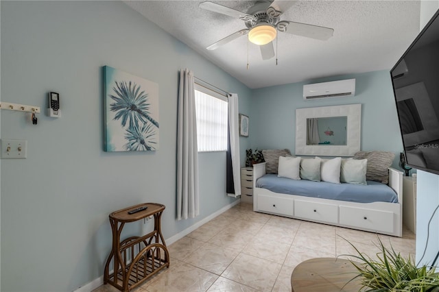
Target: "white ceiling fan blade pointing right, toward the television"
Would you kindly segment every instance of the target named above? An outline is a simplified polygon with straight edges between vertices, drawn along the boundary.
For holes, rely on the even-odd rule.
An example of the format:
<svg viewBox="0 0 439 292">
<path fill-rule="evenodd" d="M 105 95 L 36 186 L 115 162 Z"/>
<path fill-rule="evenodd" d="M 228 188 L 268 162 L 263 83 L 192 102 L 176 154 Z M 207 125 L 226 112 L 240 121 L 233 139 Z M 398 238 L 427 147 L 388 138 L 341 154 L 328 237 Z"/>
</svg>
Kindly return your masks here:
<svg viewBox="0 0 439 292">
<path fill-rule="evenodd" d="M 296 34 L 316 40 L 328 40 L 333 36 L 334 29 L 306 23 L 295 23 L 294 21 L 279 21 L 276 25 L 280 32 Z"/>
</svg>

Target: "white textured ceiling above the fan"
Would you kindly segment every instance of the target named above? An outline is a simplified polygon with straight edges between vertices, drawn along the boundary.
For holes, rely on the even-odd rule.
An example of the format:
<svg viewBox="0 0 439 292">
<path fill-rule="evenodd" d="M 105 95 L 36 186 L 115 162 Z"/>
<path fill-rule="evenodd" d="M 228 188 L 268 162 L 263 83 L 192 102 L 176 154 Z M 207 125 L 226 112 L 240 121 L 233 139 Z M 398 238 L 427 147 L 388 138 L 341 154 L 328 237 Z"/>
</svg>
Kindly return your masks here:
<svg viewBox="0 0 439 292">
<path fill-rule="evenodd" d="M 331 27 L 334 34 L 322 41 L 278 32 L 276 65 L 276 57 L 262 60 L 246 36 L 206 50 L 246 26 L 202 10 L 202 1 L 125 2 L 250 88 L 390 69 L 419 32 L 420 1 L 294 1 L 281 20 Z M 246 12 L 257 1 L 213 2 Z"/>
</svg>

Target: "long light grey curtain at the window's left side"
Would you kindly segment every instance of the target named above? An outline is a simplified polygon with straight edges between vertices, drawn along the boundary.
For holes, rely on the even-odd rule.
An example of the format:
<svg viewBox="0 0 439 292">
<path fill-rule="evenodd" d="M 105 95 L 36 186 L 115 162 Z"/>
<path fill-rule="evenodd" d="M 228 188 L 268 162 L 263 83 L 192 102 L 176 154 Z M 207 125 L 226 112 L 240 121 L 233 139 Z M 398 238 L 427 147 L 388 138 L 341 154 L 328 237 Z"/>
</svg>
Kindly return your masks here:
<svg viewBox="0 0 439 292">
<path fill-rule="evenodd" d="M 200 214 L 193 72 L 180 70 L 177 130 L 177 219 Z"/>
</svg>

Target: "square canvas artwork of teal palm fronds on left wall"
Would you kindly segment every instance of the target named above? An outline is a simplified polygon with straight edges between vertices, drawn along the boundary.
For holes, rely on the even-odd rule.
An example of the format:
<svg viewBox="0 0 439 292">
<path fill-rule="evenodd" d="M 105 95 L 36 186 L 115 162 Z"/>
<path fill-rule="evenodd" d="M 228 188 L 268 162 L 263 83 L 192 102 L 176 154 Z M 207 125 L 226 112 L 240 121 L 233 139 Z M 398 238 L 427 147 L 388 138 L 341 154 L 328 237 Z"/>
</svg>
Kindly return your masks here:
<svg viewBox="0 0 439 292">
<path fill-rule="evenodd" d="M 104 66 L 104 151 L 158 149 L 158 84 Z"/>
</svg>

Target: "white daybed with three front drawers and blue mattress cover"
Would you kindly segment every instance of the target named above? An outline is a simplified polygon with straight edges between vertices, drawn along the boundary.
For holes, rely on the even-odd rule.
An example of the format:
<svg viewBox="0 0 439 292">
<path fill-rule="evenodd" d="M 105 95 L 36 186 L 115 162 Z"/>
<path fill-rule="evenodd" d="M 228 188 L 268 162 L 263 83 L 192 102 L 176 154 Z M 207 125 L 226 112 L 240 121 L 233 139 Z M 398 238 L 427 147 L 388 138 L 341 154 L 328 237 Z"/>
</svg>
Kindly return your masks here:
<svg viewBox="0 0 439 292">
<path fill-rule="evenodd" d="M 366 199 L 360 199 L 360 202 L 358 202 L 356 193 L 351 195 L 352 191 L 349 188 L 372 189 L 377 186 L 387 187 L 387 185 L 370 181 L 367 182 L 366 186 L 345 183 L 332 184 L 331 182 L 278 178 L 276 174 L 271 174 L 272 179 L 296 184 L 298 188 L 292 194 L 285 191 L 285 186 L 282 186 L 280 190 L 270 191 L 268 188 L 264 188 L 266 187 L 266 181 L 264 182 L 264 180 L 270 176 L 270 174 L 265 175 L 266 164 L 267 162 L 262 162 L 253 165 L 254 211 L 392 236 L 402 236 L 402 171 L 388 168 L 388 186 L 394 191 L 394 197 L 390 195 L 387 199 L 383 199 L 388 202 L 379 202 L 381 197 L 384 197 L 381 196 L 381 191 L 372 191 L 372 193 L 375 193 L 374 198 L 366 196 Z M 317 187 L 317 191 L 314 191 L 313 194 L 306 193 L 312 184 Z M 379 186 L 380 184 L 381 186 Z M 337 190 L 337 188 L 339 189 Z M 328 197 L 327 195 L 333 192 L 334 189 L 335 194 L 332 193 L 332 197 Z M 390 191 L 393 192 L 392 190 Z"/>
</svg>

